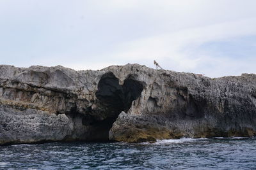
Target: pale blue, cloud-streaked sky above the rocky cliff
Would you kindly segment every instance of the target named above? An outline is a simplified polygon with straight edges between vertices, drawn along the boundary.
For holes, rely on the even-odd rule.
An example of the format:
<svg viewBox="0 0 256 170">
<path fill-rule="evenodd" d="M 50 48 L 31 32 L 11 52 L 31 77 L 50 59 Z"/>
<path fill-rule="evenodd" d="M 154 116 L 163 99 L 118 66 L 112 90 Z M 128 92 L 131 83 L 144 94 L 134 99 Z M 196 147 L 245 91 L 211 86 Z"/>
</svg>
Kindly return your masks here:
<svg viewBox="0 0 256 170">
<path fill-rule="evenodd" d="M 0 64 L 256 73 L 255 0 L 0 0 Z"/>
</svg>

